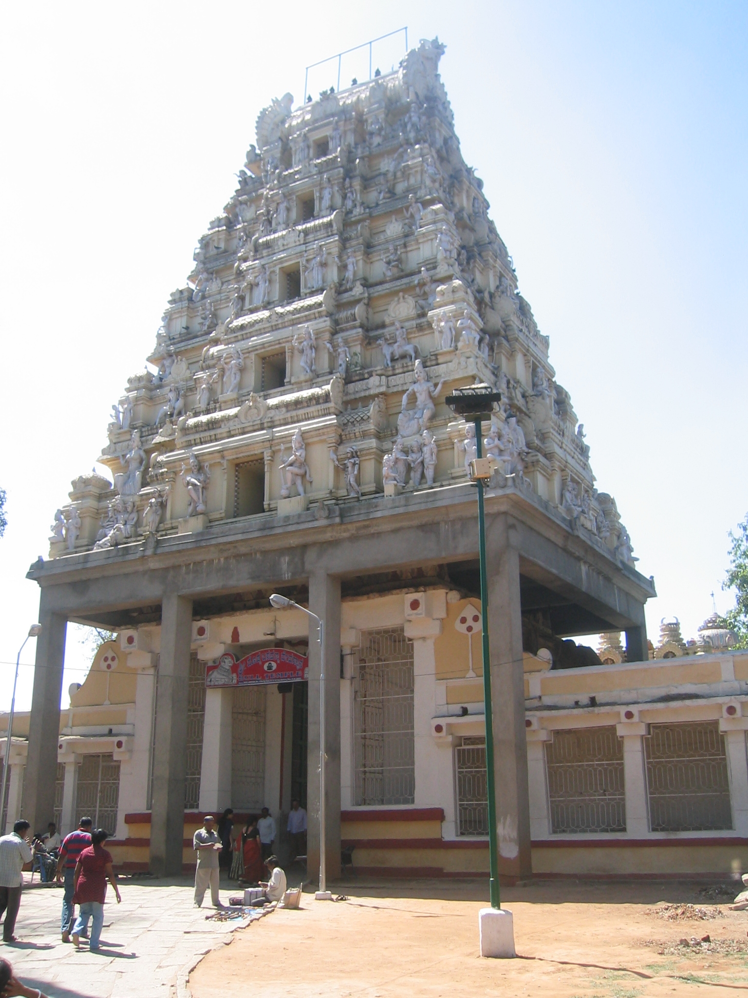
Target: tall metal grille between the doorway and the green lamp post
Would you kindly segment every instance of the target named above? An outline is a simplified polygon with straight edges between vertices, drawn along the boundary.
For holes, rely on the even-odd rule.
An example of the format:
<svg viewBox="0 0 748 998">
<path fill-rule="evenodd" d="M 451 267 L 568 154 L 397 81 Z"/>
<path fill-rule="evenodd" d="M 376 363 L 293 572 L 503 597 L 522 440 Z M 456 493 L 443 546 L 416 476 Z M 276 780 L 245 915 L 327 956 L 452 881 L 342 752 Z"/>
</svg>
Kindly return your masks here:
<svg viewBox="0 0 748 998">
<path fill-rule="evenodd" d="M 355 801 L 412 804 L 413 642 L 403 628 L 364 631 L 353 666 Z"/>
</svg>

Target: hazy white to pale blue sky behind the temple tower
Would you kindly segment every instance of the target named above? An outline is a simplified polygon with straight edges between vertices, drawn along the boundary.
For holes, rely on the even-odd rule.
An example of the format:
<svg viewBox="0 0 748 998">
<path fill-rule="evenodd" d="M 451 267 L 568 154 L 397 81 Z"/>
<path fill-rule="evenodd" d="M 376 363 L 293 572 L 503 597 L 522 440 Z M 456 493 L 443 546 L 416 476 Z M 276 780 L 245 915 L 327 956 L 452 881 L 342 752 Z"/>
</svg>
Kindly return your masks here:
<svg viewBox="0 0 748 998">
<path fill-rule="evenodd" d="M 748 5 L 6 5 L 0 709 L 38 612 L 28 566 L 107 443 L 258 112 L 286 91 L 300 103 L 307 64 L 406 24 L 411 47 L 447 45 L 463 155 L 551 336 L 597 487 L 654 576 L 649 636 L 671 614 L 694 635 L 712 590 L 731 605 L 727 531 L 748 511 Z M 375 66 L 403 49 L 383 43 Z M 334 64 L 314 73 L 315 96 L 337 84 Z M 65 691 L 85 675 L 77 640 L 70 629 Z M 32 678 L 26 665 L 20 709 Z"/>
</svg>

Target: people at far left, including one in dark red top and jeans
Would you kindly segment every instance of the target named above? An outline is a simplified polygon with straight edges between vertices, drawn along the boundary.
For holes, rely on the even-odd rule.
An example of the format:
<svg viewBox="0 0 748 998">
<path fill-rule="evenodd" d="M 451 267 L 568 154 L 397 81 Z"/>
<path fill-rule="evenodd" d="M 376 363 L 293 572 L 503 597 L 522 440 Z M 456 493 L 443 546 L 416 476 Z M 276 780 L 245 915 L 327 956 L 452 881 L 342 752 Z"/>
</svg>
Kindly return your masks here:
<svg viewBox="0 0 748 998">
<path fill-rule="evenodd" d="M 80 947 L 81 939 L 89 939 L 89 950 L 99 950 L 102 926 L 104 924 L 104 901 L 107 894 L 107 881 L 117 897 L 122 900 L 117 878 L 112 867 L 112 854 L 104 848 L 109 833 L 103 828 L 93 828 L 90 817 L 82 817 L 78 828 L 60 841 L 55 825 L 50 822 L 49 831 L 43 837 L 32 839 L 30 824 L 21 818 L 13 825 L 9 835 L 0 837 L 0 918 L 3 922 L 3 942 L 13 943 L 16 918 L 21 903 L 23 867 L 39 856 L 39 870 L 42 879 L 47 881 L 50 872 L 54 873 L 58 884 L 64 884 L 62 907 L 62 941 L 72 942 Z M 49 857 L 56 856 L 51 867 Z M 44 873 L 42 873 L 44 871 Z M 78 916 L 75 908 L 78 905 Z M 91 937 L 88 927 L 91 920 Z M 0 991 L 0 994 L 5 992 Z M 22 992 L 18 992 L 21 994 Z"/>
</svg>

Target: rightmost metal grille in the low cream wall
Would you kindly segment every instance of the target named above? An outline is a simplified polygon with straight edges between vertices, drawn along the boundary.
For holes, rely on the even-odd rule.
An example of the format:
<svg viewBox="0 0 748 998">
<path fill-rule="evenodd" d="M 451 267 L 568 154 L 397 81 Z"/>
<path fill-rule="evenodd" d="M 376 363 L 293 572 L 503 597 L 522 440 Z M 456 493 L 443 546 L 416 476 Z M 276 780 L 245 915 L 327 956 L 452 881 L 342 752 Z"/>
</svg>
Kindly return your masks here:
<svg viewBox="0 0 748 998">
<path fill-rule="evenodd" d="M 652 831 L 732 828 L 725 739 L 718 721 L 651 725 L 644 757 Z"/>
</svg>

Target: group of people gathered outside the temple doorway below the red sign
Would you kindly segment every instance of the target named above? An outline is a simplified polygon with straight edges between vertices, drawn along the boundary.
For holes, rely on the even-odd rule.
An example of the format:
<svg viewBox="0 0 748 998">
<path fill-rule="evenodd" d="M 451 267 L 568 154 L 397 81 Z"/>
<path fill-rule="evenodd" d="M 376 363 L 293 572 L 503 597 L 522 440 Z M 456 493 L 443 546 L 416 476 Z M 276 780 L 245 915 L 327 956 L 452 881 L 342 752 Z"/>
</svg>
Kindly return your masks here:
<svg viewBox="0 0 748 998">
<path fill-rule="evenodd" d="M 287 822 L 290 859 L 306 854 L 306 811 L 299 800 L 293 800 Z M 192 838 L 197 854 L 194 873 L 194 903 L 200 907 L 205 891 L 210 888 L 214 907 L 221 906 L 218 896 L 220 870 L 225 869 L 230 879 L 244 884 L 258 884 L 261 897 L 255 902 L 267 904 L 279 901 L 286 889 L 286 878 L 273 851 L 277 828 L 267 807 L 259 817 L 249 817 L 239 832 L 234 823 L 234 813 L 226 807 L 216 822 L 206 814 L 201 828 Z M 269 877 L 265 879 L 267 874 Z"/>
</svg>

